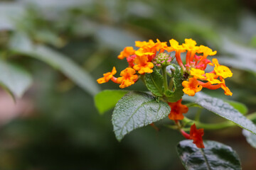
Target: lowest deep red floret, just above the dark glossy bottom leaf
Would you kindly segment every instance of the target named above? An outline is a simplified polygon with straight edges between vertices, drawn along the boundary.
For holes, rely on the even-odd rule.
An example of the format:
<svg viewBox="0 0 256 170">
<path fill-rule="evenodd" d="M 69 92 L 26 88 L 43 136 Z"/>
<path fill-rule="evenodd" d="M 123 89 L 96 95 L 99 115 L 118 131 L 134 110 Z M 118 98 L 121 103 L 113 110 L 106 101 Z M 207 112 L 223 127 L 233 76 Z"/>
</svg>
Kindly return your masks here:
<svg viewBox="0 0 256 170">
<path fill-rule="evenodd" d="M 198 148 L 204 148 L 203 145 L 203 129 L 196 129 L 195 123 L 191 125 L 191 131 L 190 131 L 190 139 L 193 140 L 193 143 L 196 144 L 196 147 Z"/>
</svg>

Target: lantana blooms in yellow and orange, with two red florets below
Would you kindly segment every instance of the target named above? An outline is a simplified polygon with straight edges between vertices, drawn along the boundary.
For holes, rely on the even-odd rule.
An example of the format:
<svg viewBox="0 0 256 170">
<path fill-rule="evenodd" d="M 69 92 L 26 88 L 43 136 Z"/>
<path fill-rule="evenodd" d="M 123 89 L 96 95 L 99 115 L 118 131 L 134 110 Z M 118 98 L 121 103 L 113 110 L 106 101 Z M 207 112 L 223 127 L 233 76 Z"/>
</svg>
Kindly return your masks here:
<svg viewBox="0 0 256 170">
<path fill-rule="evenodd" d="M 174 39 L 169 40 L 169 44 L 158 39 L 156 42 L 153 40 L 136 41 L 137 50 L 134 47 L 125 47 L 117 57 L 119 60 L 127 60 L 128 64 L 127 68 L 120 73 L 120 77 L 114 77 L 117 71 L 113 67 L 112 72 L 103 74 L 97 82 L 102 84 L 111 80 L 123 89 L 134 84 L 144 74 L 151 74 L 154 67 L 162 68 L 176 63 L 183 74 L 184 94 L 194 96 L 203 88 L 212 90 L 221 88 L 225 95 L 232 96 L 232 92 L 225 84 L 225 79 L 232 77 L 233 73 L 228 67 L 220 65 L 216 58 L 209 59 L 210 56 L 216 55 L 216 51 L 196 44 L 196 41 L 192 39 L 185 39 L 181 45 Z M 181 53 L 185 52 L 186 57 L 182 60 Z M 210 71 L 206 72 L 206 68 Z M 183 113 L 188 112 L 188 107 L 182 105 L 181 101 L 182 98 L 174 103 L 166 101 L 171 107 L 169 118 L 176 123 L 183 119 Z M 203 129 L 196 130 L 196 125 L 192 125 L 190 135 L 186 135 L 186 132 L 181 133 L 184 137 L 193 140 L 198 147 L 203 147 Z"/>
</svg>

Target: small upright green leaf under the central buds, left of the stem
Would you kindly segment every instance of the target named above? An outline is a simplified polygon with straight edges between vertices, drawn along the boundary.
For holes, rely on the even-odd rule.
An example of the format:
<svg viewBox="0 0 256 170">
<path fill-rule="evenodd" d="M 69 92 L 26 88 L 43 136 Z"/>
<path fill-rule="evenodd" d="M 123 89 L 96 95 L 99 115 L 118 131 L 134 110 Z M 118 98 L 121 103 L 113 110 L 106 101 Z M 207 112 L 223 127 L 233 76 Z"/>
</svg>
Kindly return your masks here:
<svg viewBox="0 0 256 170">
<path fill-rule="evenodd" d="M 145 74 L 146 87 L 152 94 L 156 96 L 163 96 L 163 76 L 154 68 L 152 73 Z"/>
</svg>

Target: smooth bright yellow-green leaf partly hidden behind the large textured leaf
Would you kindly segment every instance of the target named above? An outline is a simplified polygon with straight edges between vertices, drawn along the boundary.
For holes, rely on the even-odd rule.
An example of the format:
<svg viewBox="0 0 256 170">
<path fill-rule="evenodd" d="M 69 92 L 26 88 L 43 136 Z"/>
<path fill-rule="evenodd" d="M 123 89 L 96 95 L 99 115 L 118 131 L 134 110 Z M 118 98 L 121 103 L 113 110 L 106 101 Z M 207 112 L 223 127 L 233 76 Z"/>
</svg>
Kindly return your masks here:
<svg viewBox="0 0 256 170">
<path fill-rule="evenodd" d="M 100 93 L 95 96 L 95 106 L 97 110 L 100 112 L 100 114 L 103 114 L 111 108 L 114 108 L 117 101 L 119 101 L 124 94 L 127 94 L 127 92 L 128 91 L 124 90 L 100 91 Z"/>
</svg>

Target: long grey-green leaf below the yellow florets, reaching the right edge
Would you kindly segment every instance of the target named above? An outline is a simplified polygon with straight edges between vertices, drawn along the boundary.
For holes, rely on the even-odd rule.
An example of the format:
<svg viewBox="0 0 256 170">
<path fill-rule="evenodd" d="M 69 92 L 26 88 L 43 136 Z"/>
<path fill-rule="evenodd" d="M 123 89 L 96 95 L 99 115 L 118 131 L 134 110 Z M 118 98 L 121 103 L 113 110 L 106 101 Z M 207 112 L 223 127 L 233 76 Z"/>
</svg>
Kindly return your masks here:
<svg viewBox="0 0 256 170">
<path fill-rule="evenodd" d="M 249 130 L 256 134 L 256 126 L 251 120 L 245 118 L 242 113 L 233 108 L 230 104 L 224 102 L 219 98 L 213 98 L 203 93 L 196 94 L 196 102 L 198 105 L 206 108 L 221 117 L 232 121 L 233 123 L 239 125 L 241 128 Z"/>
</svg>

